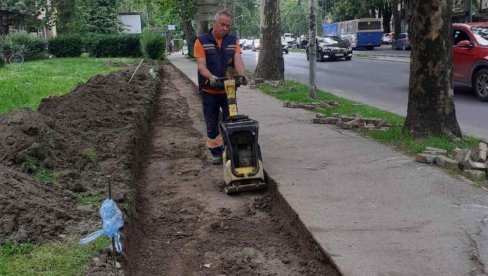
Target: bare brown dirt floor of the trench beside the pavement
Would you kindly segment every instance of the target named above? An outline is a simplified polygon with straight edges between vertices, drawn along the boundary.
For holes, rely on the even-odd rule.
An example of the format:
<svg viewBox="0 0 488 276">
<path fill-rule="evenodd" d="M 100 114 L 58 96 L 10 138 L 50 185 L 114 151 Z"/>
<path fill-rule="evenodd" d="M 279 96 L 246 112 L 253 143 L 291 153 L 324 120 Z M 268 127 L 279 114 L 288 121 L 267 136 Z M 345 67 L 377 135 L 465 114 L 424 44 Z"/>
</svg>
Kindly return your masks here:
<svg viewBox="0 0 488 276">
<path fill-rule="evenodd" d="M 125 228 L 124 274 L 339 275 L 275 189 L 222 192 L 195 87 L 163 67 L 135 215 Z"/>
</svg>

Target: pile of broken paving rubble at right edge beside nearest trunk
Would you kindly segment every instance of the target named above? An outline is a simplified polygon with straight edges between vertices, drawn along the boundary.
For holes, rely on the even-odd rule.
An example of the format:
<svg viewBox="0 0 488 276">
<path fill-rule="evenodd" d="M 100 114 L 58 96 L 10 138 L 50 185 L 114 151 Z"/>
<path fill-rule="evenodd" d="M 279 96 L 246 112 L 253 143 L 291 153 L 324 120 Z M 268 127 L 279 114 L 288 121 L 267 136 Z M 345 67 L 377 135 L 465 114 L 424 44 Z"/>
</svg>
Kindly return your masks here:
<svg viewBox="0 0 488 276">
<path fill-rule="evenodd" d="M 483 182 L 486 181 L 488 170 L 487 153 L 486 142 L 480 142 L 473 150 L 456 148 L 451 154 L 447 154 L 444 149 L 427 147 L 422 153 L 417 154 L 415 161 L 436 164 L 451 170 L 462 170 L 467 178 Z"/>
</svg>

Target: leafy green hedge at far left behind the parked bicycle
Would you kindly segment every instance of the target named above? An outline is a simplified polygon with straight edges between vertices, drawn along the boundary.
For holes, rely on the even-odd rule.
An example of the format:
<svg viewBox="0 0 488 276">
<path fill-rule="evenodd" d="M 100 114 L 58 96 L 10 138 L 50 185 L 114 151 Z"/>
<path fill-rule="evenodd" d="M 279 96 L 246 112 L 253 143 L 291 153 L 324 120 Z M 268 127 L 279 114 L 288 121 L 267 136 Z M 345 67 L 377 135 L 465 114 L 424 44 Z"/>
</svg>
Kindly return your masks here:
<svg viewBox="0 0 488 276">
<path fill-rule="evenodd" d="M 0 39 L 0 51 L 20 52 L 26 61 L 46 58 L 46 46 L 45 39 L 25 33 L 8 34 Z"/>
</svg>

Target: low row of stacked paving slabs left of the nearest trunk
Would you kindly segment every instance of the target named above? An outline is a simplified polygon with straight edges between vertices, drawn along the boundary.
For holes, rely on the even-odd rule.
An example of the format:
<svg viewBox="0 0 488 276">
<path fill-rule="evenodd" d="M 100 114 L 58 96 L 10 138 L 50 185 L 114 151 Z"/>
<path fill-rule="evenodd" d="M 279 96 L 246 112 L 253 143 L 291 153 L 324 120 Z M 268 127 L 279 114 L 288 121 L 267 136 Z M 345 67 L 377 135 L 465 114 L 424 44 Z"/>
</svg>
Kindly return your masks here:
<svg viewBox="0 0 488 276">
<path fill-rule="evenodd" d="M 343 116 L 337 113 L 334 113 L 331 116 L 316 114 L 316 118 L 313 119 L 313 123 L 337 125 L 343 129 L 359 128 L 363 130 L 387 130 L 389 128 L 388 123 L 384 119 Z"/>
</svg>

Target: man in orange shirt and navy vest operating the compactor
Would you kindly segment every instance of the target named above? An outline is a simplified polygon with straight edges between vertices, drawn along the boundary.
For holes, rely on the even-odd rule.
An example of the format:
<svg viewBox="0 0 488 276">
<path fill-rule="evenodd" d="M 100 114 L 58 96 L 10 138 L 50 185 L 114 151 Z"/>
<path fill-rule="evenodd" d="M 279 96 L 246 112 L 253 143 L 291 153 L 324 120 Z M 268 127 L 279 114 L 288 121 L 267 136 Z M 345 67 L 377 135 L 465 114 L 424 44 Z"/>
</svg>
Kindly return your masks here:
<svg viewBox="0 0 488 276">
<path fill-rule="evenodd" d="M 227 70 L 234 68 L 237 75 L 244 76 L 244 62 L 239 41 L 229 34 L 232 17 L 227 10 L 215 14 L 212 28 L 200 35 L 194 46 L 194 56 L 198 65 L 198 88 L 202 99 L 203 115 L 207 125 L 207 147 L 212 154 L 212 164 L 222 164 L 224 144 L 219 131 L 219 112 L 222 117 L 229 115 L 227 95 L 224 88 L 217 88 L 218 79 L 226 77 Z M 241 84 L 246 85 L 243 78 Z"/>
</svg>

